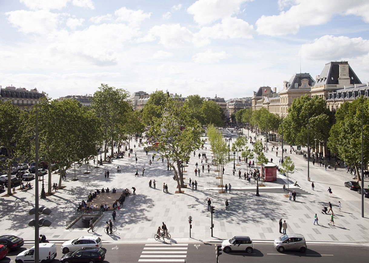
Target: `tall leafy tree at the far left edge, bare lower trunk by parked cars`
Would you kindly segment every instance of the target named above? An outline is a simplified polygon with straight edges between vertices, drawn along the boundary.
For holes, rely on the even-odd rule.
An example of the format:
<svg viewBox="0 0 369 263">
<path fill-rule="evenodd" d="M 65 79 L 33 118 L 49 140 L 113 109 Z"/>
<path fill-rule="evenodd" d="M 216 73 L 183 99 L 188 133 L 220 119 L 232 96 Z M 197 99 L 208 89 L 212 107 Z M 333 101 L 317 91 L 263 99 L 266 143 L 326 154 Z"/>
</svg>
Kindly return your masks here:
<svg viewBox="0 0 369 263">
<path fill-rule="evenodd" d="M 10 173 L 11 166 L 15 161 L 18 128 L 20 127 L 20 110 L 13 105 L 11 101 L 0 101 L 0 145 L 6 148 L 8 158 L 5 161 L 5 166 L 8 173 L 8 194 L 11 194 Z"/>
</svg>

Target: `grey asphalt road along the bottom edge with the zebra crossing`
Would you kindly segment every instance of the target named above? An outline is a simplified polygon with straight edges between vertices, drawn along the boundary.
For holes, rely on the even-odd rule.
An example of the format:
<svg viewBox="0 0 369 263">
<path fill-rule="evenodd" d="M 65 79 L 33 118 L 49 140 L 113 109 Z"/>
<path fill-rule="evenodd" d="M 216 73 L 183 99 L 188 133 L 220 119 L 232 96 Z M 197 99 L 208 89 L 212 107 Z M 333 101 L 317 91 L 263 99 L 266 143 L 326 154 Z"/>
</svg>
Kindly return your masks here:
<svg viewBox="0 0 369 263">
<path fill-rule="evenodd" d="M 148 244 L 105 244 L 103 248 L 107 250 L 104 263 L 120 262 L 201 262 L 215 263 L 215 246 L 210 243 L 189 243 L 166 245 L 162 243 Z M 30 248 L 31 245 L 25 245 L 23 249 Z M 57 244 L 58 256 L 53 263 L 60 263 L 62 253 L 61 244 Z M 0 263 L 15 262 L 15 256 L 21 250 L 11 252 Z M 289 251 L 279 253 L 271 243 L 255 243 L 254 252 L 230 253 L 223 252 L 219 256 L 219 263 L 238 263 L 238 262 L 368 262 L 368 246 L 342 246 L 342 245 L 308 245 L 306 253 L 298 251 Z M 185 261 L 186 260 L 186 261 Z"/>
</svg>

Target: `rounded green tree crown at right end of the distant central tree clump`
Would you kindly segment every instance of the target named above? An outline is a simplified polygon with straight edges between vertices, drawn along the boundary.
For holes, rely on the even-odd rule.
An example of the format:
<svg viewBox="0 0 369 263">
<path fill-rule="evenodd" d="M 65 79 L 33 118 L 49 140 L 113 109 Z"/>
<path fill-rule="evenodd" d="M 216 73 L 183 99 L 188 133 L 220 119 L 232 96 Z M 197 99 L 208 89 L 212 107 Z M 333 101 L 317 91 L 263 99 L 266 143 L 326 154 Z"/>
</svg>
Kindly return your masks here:
<svg viewBox="0 0 369 263">
<path fill-rule="evenodd" d="M 224 112 L 214 101 L 204 101 L 201 106 L 201 113 L 203 115 L 203 125 L 213 124 L 217 127 L 224 126 Z"/>
</svg>

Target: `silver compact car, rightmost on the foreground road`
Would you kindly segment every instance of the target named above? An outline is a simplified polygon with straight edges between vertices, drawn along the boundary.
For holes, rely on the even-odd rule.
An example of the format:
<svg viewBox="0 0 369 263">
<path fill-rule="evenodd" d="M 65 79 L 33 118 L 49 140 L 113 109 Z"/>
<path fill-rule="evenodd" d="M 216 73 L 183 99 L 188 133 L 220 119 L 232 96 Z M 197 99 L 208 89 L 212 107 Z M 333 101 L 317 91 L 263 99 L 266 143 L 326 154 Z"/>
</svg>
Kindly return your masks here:
<svg viewBox="0 0 369 263">
<path fill-rule="evenodd" d="M 283 252 L 284 250 L 300 250 L 301 253 L 305 253 L 307 249 L 305 238 L 301 234 L 280 236 L 274 241 L 274 247 L 278 252 Z"/>
</svg>

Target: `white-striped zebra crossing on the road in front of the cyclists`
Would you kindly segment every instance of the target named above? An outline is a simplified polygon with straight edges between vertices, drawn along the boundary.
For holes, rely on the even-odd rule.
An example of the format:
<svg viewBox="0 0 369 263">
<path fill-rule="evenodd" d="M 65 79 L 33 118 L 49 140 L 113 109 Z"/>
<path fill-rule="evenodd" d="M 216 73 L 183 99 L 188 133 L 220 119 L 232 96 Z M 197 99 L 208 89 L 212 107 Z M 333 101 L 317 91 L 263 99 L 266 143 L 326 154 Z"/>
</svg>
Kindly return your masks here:
<svg viewBox="0 0 369 263">
<path fill-rule="evenodd" d="M 188 244 L 145 244 L 138 262 L 186 262 Z"/>
</svg>

